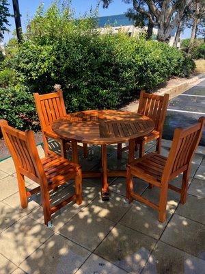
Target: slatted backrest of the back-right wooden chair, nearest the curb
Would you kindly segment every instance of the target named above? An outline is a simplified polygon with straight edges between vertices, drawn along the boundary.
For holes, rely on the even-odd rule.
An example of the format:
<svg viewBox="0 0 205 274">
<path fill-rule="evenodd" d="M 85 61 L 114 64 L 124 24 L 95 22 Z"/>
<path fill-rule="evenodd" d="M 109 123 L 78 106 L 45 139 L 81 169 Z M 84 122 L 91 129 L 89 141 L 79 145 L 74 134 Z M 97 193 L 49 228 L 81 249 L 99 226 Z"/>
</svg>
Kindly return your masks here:
<svg viewBox="0 0 205 274">
<path fill-rule="evenodd" d="M 150 117 L 155 123 L 154 129 L 162 133 L 168 102 L 168 94 L 152 95 L 141 90 L 137 113 Z"/>
</svg>

